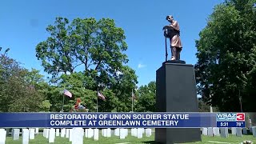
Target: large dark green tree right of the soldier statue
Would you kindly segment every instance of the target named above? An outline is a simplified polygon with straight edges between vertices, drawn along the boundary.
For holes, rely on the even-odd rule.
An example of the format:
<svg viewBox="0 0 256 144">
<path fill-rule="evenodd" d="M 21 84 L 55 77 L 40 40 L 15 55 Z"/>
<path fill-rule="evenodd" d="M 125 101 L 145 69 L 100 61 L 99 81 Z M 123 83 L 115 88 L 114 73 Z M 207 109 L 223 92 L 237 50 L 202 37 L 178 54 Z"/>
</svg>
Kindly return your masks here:
<svg viewBox="0 0 256 144">
<path fill-rule="evenodd" d="M 196 41 L 198 94 L 221 111 L 254 110 L 256 98 L 255 0 L 215 6 Z"/>
</svg>

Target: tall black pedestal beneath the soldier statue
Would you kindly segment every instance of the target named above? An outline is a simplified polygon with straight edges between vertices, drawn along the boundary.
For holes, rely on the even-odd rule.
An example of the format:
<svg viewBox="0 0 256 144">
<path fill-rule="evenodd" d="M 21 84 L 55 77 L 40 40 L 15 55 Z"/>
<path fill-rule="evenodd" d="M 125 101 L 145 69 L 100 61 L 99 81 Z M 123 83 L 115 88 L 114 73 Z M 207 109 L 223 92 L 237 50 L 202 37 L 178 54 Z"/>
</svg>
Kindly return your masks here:
<svg viewBox="0 0 256 144">
<path fill-rule="evenodd" d="M 158 112 L 198 112 L 194 66 L 184 61 L 163 62 L 157 70 L 156 108 Z M 199 128 L 156 129 L 159 143 L 201 141 Z"/>
</svg>

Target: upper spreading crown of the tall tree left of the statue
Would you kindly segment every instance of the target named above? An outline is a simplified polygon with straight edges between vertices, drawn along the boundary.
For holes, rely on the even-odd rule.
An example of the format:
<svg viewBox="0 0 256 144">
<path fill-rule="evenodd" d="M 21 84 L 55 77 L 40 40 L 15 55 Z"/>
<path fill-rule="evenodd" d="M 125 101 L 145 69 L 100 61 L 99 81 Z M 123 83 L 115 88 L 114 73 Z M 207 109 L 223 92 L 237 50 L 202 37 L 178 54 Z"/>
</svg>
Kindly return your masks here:
<svg viewBox="0 0 256 144">
<path fill-rule="evenodd" d="M 87 72 L 96 70 L 107 74 L 118 72 L 128 62 L 124 31 L 115 26 L 114 20 L 102 18 L 56 18 L 55 26 L 46 30 L 50 37 L 36 46 L 36 56 L 42 61 L 45 71 L 53 76 L 63 72 L 74 73 L 83 65 Z"/>
</svg>

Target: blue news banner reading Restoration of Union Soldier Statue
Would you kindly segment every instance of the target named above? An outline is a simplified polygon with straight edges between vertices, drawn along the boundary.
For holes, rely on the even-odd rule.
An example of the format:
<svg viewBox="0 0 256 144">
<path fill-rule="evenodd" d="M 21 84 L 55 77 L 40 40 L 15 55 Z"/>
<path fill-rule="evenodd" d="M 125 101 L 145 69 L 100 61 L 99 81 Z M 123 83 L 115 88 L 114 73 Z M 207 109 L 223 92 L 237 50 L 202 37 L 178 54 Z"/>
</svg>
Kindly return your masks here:
<svg viewBox="0 0 256 144">
<path fill-rule="evenodd" d="M 0 127 L 245 127 L 245 113 L 0 113 Z"/>
</svg>

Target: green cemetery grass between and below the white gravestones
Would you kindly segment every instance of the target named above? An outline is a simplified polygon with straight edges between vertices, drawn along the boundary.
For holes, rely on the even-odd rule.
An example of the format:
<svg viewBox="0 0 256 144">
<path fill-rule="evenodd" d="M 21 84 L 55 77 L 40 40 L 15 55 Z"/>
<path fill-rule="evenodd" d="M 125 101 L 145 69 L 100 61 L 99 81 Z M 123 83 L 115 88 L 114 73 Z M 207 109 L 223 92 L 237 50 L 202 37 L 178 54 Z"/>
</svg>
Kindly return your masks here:
<svg viewBox="0 0 256 144">
<path fill-rule="evenodd" d="M 202 142 L 190 142 L 190 143 L 238 143 L 238 142 L 242 142 L 245 140 L 249 140 L 252 141 L 254 143 L 256 143 L 256 138 L 253 138 L 252 135 L 243 135 L 242 138 L 236 137 L 234 135 L 229 136 L 229 138 L 221 138 L 221 137 L 209 137 L 209 136 L 203 136 L 202 135 Z M 22 139 L 20 137 L 20 139 L 18 141 L 14 141 L 11 137 L 7 137 L 6 138 L 6 144 L 21 144 L 22 143 Z M 42 134 L 39 135 L 35 135 L 34 140 L 30 140 L 30 144 L 45 144 L 48 143 L 46 138 L 42 137 Z M 69 142 L 69 138 L 61 138 L 61 137 L 56 137 L 54 143 L 56 144 L 71 144 L 71 142 Z M 98 141 L 94 141 L 93 138 L 84 138 L 84 142 L 83 143 L 106 143 L 106 144 L 114 144 L 114 143 L 150 143 L 150 144 L 154 144 L 154 133 L 151 137 L 147 138 L 144 134 L 143 134 L 143 138 L 135 138 L 130 136 L 130 134 L 126 137 L 126 139 L 119 139 L 116 136 L 112 136 L 110 138 L 104 138 L 102 137 L 102 135 L 99 135 L 99 140 Z"/>
</svg>

